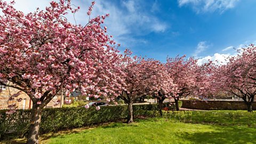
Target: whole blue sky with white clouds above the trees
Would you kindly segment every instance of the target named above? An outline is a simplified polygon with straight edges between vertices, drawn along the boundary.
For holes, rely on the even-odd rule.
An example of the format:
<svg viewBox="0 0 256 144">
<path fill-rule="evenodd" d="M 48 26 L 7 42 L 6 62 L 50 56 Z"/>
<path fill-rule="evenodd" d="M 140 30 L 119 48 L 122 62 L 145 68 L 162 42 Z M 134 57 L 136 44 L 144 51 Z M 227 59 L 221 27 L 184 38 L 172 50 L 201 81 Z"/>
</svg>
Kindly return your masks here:
<svg viewBox="0 0 256 144">
<path fill-rule="evenodd" d="M 81 6 L 75 18 L 85 25 L 91 1 L 73 0 Z M 92 15 L 109 13 L 105 25 L 121 44 L 165 62 L 167 55 L 186 54 L 204 62 L 223 60 L 233 55 L 233 47 L 256 43 L 255 0 L 98 0 Z M 25 12 L 43 9 L 49 0 L 18 0 L 17 9 Z M 73 17 L 68 18 L 73 21 Z"/>
</svg>

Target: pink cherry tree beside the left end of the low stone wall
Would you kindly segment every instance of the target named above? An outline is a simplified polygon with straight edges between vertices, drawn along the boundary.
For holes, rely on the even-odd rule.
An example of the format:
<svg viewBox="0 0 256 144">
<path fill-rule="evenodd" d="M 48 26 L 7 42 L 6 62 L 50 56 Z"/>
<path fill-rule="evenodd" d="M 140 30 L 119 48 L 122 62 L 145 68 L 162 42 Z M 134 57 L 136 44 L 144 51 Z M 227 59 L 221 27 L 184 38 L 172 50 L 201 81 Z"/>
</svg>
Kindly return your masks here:
<svg viewBox="0 0 256 144">
<path fill-rule="evenodd" d="M 170 93 L 179 110 L 178 101 L 188 95 L 205 94 L 210 86 L 210 71 L 212 62 L 197 65 L 194 58 L 183 57 L 167 58 L 166 67 L 173 83 L 177 86 L 177 93 Z"/>
</svg>

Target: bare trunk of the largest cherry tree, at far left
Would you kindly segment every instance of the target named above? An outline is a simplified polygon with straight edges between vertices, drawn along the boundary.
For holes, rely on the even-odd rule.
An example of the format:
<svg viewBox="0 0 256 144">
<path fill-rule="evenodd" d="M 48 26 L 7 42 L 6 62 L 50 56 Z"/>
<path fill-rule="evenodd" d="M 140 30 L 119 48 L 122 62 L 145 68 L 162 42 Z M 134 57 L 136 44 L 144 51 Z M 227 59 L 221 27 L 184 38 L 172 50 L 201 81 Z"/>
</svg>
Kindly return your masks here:
<svg viewBox="0 0 256 144">
<path fill-rule="evenodd" d="M 39 143 L 39 124 L 41 122 L 42 108 L 36 102 L 33 102 L 31 115 L 27 143 Z"/>
</svg>

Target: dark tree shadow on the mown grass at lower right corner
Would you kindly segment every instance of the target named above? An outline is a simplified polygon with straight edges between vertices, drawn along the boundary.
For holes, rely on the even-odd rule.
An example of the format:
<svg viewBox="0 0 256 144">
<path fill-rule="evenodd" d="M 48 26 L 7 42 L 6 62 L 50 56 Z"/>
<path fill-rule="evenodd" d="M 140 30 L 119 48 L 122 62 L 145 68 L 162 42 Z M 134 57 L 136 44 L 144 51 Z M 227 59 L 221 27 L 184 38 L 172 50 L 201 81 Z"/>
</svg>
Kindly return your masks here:
<svg viewBox="0 0 256 144">
<path fill-rule="evenodd" d="M 256 129 L 246 126 L 213 126 L 210 132 L 181 133 L 191 143 L 256 143 Z"/>
</svg>

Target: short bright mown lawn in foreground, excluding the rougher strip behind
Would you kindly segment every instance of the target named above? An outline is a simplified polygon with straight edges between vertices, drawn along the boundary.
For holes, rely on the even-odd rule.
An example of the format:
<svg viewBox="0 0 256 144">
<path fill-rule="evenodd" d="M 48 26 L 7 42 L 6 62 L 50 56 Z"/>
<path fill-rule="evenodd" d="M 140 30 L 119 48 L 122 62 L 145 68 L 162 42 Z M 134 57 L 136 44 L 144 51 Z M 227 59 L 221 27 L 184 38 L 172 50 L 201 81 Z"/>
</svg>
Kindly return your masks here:
<svg viewBox="0 0 256 144">
<path fill-rule="evenodd" d="M 256 143 L 256 129 L 245 125 L 208 125 L 165 118 L 111 123 L 53 136 L 47 143 Z"/>
</svg>

